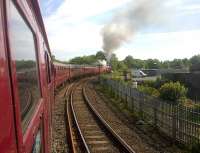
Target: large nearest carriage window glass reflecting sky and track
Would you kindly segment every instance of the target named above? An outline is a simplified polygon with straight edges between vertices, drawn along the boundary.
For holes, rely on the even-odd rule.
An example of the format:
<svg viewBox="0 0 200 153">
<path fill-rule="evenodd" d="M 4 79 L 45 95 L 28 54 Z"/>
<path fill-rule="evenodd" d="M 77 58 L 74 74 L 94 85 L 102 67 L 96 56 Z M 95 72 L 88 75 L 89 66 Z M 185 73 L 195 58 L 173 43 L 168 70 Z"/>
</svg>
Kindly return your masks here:
<svg viewBox="0 0 200 153">
<path fill-rule="evenodd" d="M 13 3 L 9 7 L 11 54 L 16 64 L 17 86 L 23 132 L 27 128 L 36 103 L 41 97 L 33 32 Z"/>
</svg>

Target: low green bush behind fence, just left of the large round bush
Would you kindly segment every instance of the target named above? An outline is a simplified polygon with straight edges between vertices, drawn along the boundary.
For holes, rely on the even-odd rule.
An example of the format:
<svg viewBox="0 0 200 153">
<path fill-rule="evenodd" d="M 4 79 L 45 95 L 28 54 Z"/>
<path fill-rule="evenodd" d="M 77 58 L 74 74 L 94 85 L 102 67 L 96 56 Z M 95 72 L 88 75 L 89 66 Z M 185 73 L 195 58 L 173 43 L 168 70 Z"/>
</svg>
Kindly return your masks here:
<svg viewBox="0 0 200 153">
<path fill-rule="evenodd" d="M 159 91 L 156 88 L 153 88 L 153 87 L 141 85 L 141 86 L 138 86 L 138 90 L 147 94 L 147 95 L 153 96 L 153 97 L 159 97 L 160 96 Z"/>
</svg>

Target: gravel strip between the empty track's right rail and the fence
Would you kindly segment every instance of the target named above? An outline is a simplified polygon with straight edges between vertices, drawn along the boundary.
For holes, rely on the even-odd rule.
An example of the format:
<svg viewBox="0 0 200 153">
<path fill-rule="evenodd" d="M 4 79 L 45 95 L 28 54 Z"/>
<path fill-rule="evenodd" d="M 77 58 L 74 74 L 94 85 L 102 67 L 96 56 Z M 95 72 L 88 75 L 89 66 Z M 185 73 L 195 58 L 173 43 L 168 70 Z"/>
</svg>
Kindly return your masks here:
<svg viewBox="0 0 200 153">
<path fill-rule="evenodd" d="M 158 138 L 155 132 L 151 133 L 152 129 L 148 129 L 149 131 L 139 130 L 134 122 L 130 122 L 119 109 L 109 102 L 110 99 L 105 98 L 102 93 L 97 93 L 94 89 L 91 84 L 86 87 L 92 105 L 136 153 L 183 153 L 167 140 L 163 141 Z M 151 137 L 149 137 L 149 132 Z"/>
</svg>

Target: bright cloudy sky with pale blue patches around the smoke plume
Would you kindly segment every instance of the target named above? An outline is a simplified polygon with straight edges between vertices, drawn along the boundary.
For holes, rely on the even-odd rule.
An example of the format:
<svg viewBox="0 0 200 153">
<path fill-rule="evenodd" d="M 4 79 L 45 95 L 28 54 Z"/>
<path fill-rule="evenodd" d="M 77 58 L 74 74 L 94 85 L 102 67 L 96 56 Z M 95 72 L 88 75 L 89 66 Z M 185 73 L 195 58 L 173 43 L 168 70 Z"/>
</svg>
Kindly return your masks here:
<svg viewBox="0 0 200 153">
<path fill-rule="evenodd" d="M 102 50 L 102 28 L 131 1 L 141 0 L 40 0 L 52 53 L 68 60 Z M 200 53 L 199 0 L 160 2 L 164 9 L 157 16 L 163 20 L 140 28 L 115 51 L 119 59 L 171 60 Z"/>
</svg>

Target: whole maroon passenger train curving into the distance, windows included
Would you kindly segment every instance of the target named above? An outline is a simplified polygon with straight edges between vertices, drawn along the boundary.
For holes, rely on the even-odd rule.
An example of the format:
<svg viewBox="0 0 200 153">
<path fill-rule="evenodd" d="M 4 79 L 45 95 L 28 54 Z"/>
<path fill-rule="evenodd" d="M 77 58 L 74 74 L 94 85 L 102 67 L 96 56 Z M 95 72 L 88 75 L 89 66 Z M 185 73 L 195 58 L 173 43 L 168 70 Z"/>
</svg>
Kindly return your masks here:
<svg viewBox="0 0 200 153">
<path fill-rule="evenodd" d="M 0 152 L 49 153 L 54 89 L 109 71 L 53 63 L 37 0 L 0 0 Z"/>
</svg>

